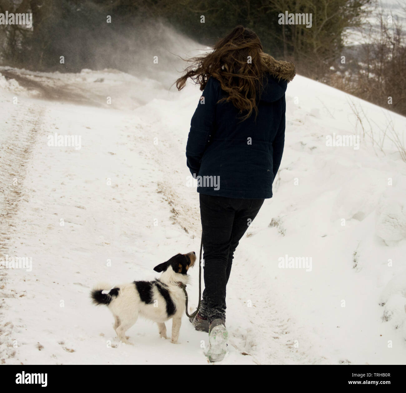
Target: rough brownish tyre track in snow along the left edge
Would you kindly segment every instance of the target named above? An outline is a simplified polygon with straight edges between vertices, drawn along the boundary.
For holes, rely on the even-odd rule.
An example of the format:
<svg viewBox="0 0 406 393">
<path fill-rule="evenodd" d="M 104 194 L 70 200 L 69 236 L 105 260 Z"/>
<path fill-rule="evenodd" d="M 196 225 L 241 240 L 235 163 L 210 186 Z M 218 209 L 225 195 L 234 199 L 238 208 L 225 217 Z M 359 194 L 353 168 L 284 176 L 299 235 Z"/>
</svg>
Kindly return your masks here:
<svg viewBox="0 0 406 393">
<path fill-rule="evenodd" d="M 6 258 L 19 256 L 18 250 L 9 248 L 9 243 L 18 236 L 15 218 L 20 201 L 29 198 L 24 179 L 45 108 L 24 101 L 13 104 L 11 100 L 3 100 L 2 105 L 9 109 L 8 117 L 2 119 L 0 139 L 0 257 Z M 15 356 L 13 323 L 7 320 L 5 311 L 9 307 L 6 298 L 17 295 L 7 285 L 7 269 L 0 265 L 0 364 Z"/>
</svg>

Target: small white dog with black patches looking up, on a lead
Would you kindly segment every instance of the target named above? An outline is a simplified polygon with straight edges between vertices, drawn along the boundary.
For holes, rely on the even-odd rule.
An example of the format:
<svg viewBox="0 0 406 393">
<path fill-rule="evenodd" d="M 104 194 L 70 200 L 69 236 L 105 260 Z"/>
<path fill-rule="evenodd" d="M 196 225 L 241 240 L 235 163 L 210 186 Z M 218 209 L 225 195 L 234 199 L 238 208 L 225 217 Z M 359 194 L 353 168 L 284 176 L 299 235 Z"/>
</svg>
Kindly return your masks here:
<svg viewBox="0 0 406 393">
<path fill-rule="evenodd" d="M 155 272 L 163 272 L 160 279 L 114 287 L 101 283 L 93 288 L 91 298 L 94 304 L 108 306 L 114 316 L 113 328 L 124 343 L 131 344 L 125 332 L 137 322 L 138 315 L 157 322 L 160 337 L 164 338 L 168 338 L 164 322 L 173 318 L 171 341 L 177 343 L 186 300 L 180 284 L 188 282 L 188 269 L 195 261 L 194 251 L 177 254 L 155 266 Z"/>
</svg>

